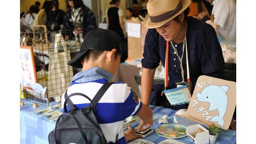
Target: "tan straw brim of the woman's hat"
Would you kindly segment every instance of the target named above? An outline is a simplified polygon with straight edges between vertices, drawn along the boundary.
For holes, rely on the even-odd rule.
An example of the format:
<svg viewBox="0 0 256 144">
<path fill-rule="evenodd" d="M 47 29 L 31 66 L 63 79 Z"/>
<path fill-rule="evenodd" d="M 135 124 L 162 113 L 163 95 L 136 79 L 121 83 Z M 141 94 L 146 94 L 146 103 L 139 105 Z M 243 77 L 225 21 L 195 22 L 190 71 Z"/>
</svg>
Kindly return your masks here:
<svg viewBox="0 0 256 144">
<path fill-rule="evenodd" d="M 181 3 L 182 3 L 182 9 L 177 12 L 177 14 L 175 14 L 174 16 L 166 19 L 165 21 L 161 21 L 159 23 L 153 23 L 151 22 L 150 20 L 150 17 L 149 15 L 147 14 L 146 17 L 144 18 L 144 21 L 143 21 L 143 25 L 148 28 L 148 29 L 153 29 L 153 28 L 158 28 L 158 27 L 161 27 L 162 25 L 164 25 L 165 23 L 167 23 L 169 20 L 173 19 L 174 17 L 176 17 L 177 15 L 179 15 L 180 13 L 182 13 L 188 6 L 189 4 L 191 3 L 190 0 L 181 0 Z"/>
</svg>

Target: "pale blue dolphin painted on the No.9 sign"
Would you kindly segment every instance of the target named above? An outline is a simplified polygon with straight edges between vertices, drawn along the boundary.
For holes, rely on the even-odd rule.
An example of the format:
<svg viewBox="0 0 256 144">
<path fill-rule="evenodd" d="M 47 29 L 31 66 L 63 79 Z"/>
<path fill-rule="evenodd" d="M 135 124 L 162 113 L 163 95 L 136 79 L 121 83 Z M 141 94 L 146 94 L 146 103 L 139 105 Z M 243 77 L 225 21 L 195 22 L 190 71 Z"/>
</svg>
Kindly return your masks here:
<svg viewBox="0 0 256 144">
<path fill-rule="evenodd" d="M 210 103 L 210 107 L 208 111 L 218 110 L 219 115 L 214 116 L 210 122 L 217 121 L 218 124 L 223 127 L 224 125 L 224 116 L 227 110 L 228 105 L 228 97 L 227 91 L 228 86 L 217 86 L 217 85 L 210 85 L 205 87 L 201 93 L 197 93 L 197 99 L 201 102 L 208 102 Z"/>
</svg>

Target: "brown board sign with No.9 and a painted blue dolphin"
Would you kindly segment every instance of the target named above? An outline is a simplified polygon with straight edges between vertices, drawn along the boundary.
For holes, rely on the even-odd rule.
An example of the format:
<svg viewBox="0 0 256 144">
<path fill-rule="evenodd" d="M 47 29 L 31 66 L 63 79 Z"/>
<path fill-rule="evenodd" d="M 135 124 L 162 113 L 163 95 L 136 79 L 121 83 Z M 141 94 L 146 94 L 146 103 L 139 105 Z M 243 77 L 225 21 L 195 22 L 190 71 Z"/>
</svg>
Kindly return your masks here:
<svg viewBox="0 0 256 144">
<path fill-rule="evenodd" d="M 200 76 L 187 115 L 227 130 L 236 108 L 236 82 Z"/>
</svg>

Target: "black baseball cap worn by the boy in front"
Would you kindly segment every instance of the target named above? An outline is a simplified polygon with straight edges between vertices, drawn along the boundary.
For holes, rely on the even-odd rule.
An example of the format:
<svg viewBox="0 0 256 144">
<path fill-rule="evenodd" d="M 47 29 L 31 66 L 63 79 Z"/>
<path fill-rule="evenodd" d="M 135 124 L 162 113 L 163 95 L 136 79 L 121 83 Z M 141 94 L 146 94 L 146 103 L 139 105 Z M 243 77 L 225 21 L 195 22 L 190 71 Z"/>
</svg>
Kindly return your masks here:
<svg viewBox="0 0 256 144">
<path fill-rule="evenodd" d="M 124 46 L 124 43 L 114 31 L 108 29 L 91 30 L 84 36 L 79 54 L 67 64 L 76 68 L 83 68 L 81 60 L 89 50 L 112 51 L 112 49 L 120 47 L 120 45 Z"/>
</svg>

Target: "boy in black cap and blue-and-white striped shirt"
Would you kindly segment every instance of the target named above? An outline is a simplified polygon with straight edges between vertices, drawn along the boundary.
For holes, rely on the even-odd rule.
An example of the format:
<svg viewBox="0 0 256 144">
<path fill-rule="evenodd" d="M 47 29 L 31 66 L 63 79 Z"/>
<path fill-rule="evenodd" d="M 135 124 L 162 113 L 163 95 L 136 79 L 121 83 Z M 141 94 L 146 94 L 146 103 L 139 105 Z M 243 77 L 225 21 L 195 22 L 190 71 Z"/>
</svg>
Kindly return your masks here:
<svg viewBox="0 0 256 144">
<path fill-rule="evenodd" d="M 93 99 L 101 86 L 111 81 L 120 63 L 120 56 L 125 45 L 122 39 L 113 31 L 94 29 L 88 32 L 82 40 L 79 54 L 67 64 L 83 68 L 73 79 L 67 94 L 79 92 Z M 65 101 L 62 95 L 62 106 Z M 81 96 L 70 98 L 77 109 L 87 106 L 89 100 Z M 123 133 L 125 118 L 138 115 L 143 121 L 152 124 L 153 112 L 138 99 L 135 92 L 125 83 L 115 82 L 105 92 L 96 105 L 98 123 L 108 143 L 115 142 L 118 133 L 118 143 L 126 143 L 139 138 L 129 127 Z"/>
</svg>

